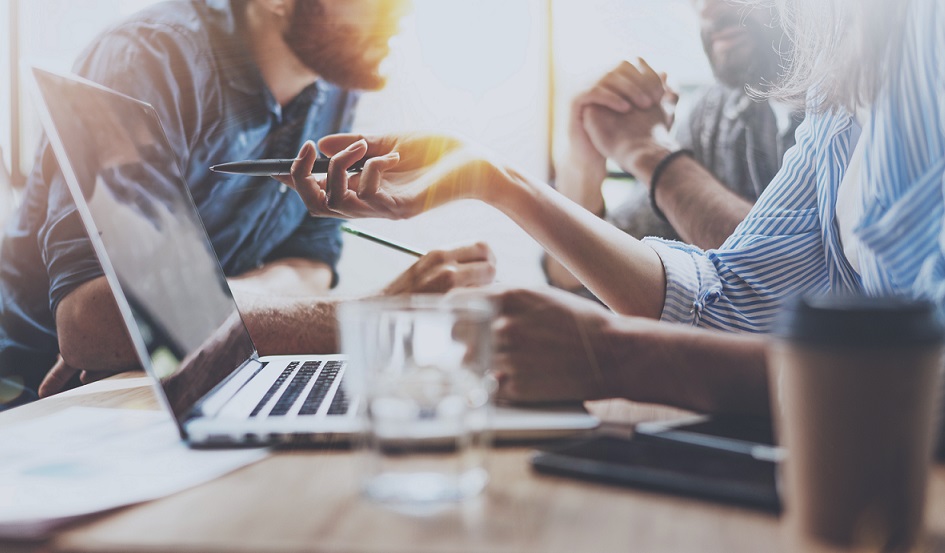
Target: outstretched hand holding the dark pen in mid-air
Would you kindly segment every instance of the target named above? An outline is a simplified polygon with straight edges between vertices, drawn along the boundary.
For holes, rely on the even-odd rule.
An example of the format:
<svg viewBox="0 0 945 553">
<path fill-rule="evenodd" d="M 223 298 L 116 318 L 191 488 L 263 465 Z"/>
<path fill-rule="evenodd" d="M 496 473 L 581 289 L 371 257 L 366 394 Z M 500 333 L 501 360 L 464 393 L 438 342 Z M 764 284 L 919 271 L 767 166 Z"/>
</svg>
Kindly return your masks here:
<svg viewBox="0 0 945 553">
<path fill-rule="evenodd" d="M 312 175 L 315 145 L 306 142 L 292 167 L 279 177 L 293 187 L 312 215 L 403 219 L 461 198 L 478 197 L 496 171 L 463 142 L 436 135 L 357 134 L 327 136 L 319 149 L 332 156 L 325 176 Z M 347 169 L 361 158 L 364 169 Z"/>
</svg>

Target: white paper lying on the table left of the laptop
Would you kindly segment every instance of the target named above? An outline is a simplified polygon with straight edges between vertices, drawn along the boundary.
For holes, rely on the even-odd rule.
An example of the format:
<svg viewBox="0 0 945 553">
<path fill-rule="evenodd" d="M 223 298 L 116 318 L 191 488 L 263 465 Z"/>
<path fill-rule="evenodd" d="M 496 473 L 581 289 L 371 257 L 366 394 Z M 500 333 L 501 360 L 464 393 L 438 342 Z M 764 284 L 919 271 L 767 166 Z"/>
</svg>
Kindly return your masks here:
<svg viewBox="0 0 945 553">
<path fill-rule="evenodd" d="M 264 449 L 200 451 L 163 411 L 70 407 L 0 428 L 0 537 L 157 499 L 258 461 Z"/>
</svg>

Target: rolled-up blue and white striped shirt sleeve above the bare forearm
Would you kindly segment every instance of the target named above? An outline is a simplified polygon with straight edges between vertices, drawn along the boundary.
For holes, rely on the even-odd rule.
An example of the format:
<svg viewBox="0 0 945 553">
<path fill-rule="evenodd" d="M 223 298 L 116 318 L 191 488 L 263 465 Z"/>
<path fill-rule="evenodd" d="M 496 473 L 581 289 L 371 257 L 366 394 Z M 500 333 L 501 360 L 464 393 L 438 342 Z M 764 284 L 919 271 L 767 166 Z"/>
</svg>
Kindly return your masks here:
<svg viewBox="0 0 945 553">
<path fill-rule="evenodd" d="M 765 332 L 786 297 L 830 288 L 816 185 L 818 119 L 798 129 L 781 171 L 719 249 L 645 240 L 665 268 L 662 320 Z"/>
</svg>

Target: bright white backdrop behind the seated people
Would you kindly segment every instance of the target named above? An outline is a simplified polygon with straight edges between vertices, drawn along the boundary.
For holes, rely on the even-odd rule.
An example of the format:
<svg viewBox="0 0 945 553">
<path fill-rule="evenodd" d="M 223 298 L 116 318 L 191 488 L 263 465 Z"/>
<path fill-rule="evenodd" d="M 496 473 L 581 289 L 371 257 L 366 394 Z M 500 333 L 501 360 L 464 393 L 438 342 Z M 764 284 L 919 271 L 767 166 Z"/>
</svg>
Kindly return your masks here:
<svg viewBox="0 0 945 553">
<path fill-rule="evenodd" d="M 21 0 L 22 74 L 34 63 L 68 69 L 104 27 L 154 1 Z M 364 97 L 356 128 L 461 134 L 547 179 L 547 1 L 414 0 L 415 11 L 404 21 L 404 33 L 387 64 L 389 85 Z M 677 83 L 710 78 L 689 0 L 553 0 L 553 5 L 558 121 L 566 116 L 574 93 L 625 57 L 643 55 Z M 7 5 L 0 2 L 0 32 L 6 15 Z M 3 40 L 0 75 L 9 74 L 7 57 Z M 9 113 L 5 82 L 0 80 L 0 113 Z M 40 125 L 25 90 L 21 98 L 21 167 L 26 173 Z M 9 118 L 0 118 L 0 140 L 8 140 L 8 129 Z M 558 125 L 558 144 L 560 130 Z M 9 155 L 8 144 L 0 141 L 0 146 Z M 543 282 L 537 244 L 507 218 L 476 202 L 457 203 L 412 221 L 359 224 L 427 250 L 485 240 L 497 253 L 500 280 Z M 351 236 L 345 241 L 342 294 L 376 289 L 413 262 Z"/>
</svg>

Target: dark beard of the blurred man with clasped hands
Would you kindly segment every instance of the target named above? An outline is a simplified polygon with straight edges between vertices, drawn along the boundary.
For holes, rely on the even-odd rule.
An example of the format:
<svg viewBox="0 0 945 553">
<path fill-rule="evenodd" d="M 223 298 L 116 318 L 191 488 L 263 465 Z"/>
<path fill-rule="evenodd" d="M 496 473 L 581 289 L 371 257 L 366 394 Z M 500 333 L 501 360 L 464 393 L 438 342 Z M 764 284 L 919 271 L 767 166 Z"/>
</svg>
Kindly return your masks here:
<svg viewBox="0 0 945 553">
<path fill-rule="evenodd" d="M 712 35 L 728 28 L 740 28 L 747 39 L 728 51 L 715 51 Z M 702 29 L 702 47 L 709 58 L 712 73 L 730 88 L 746 86 L 765 89 L 777 84 L 790 59 L 789 40 L 784 30 L 737 12 L 725 14 Z"/>
</svg>

